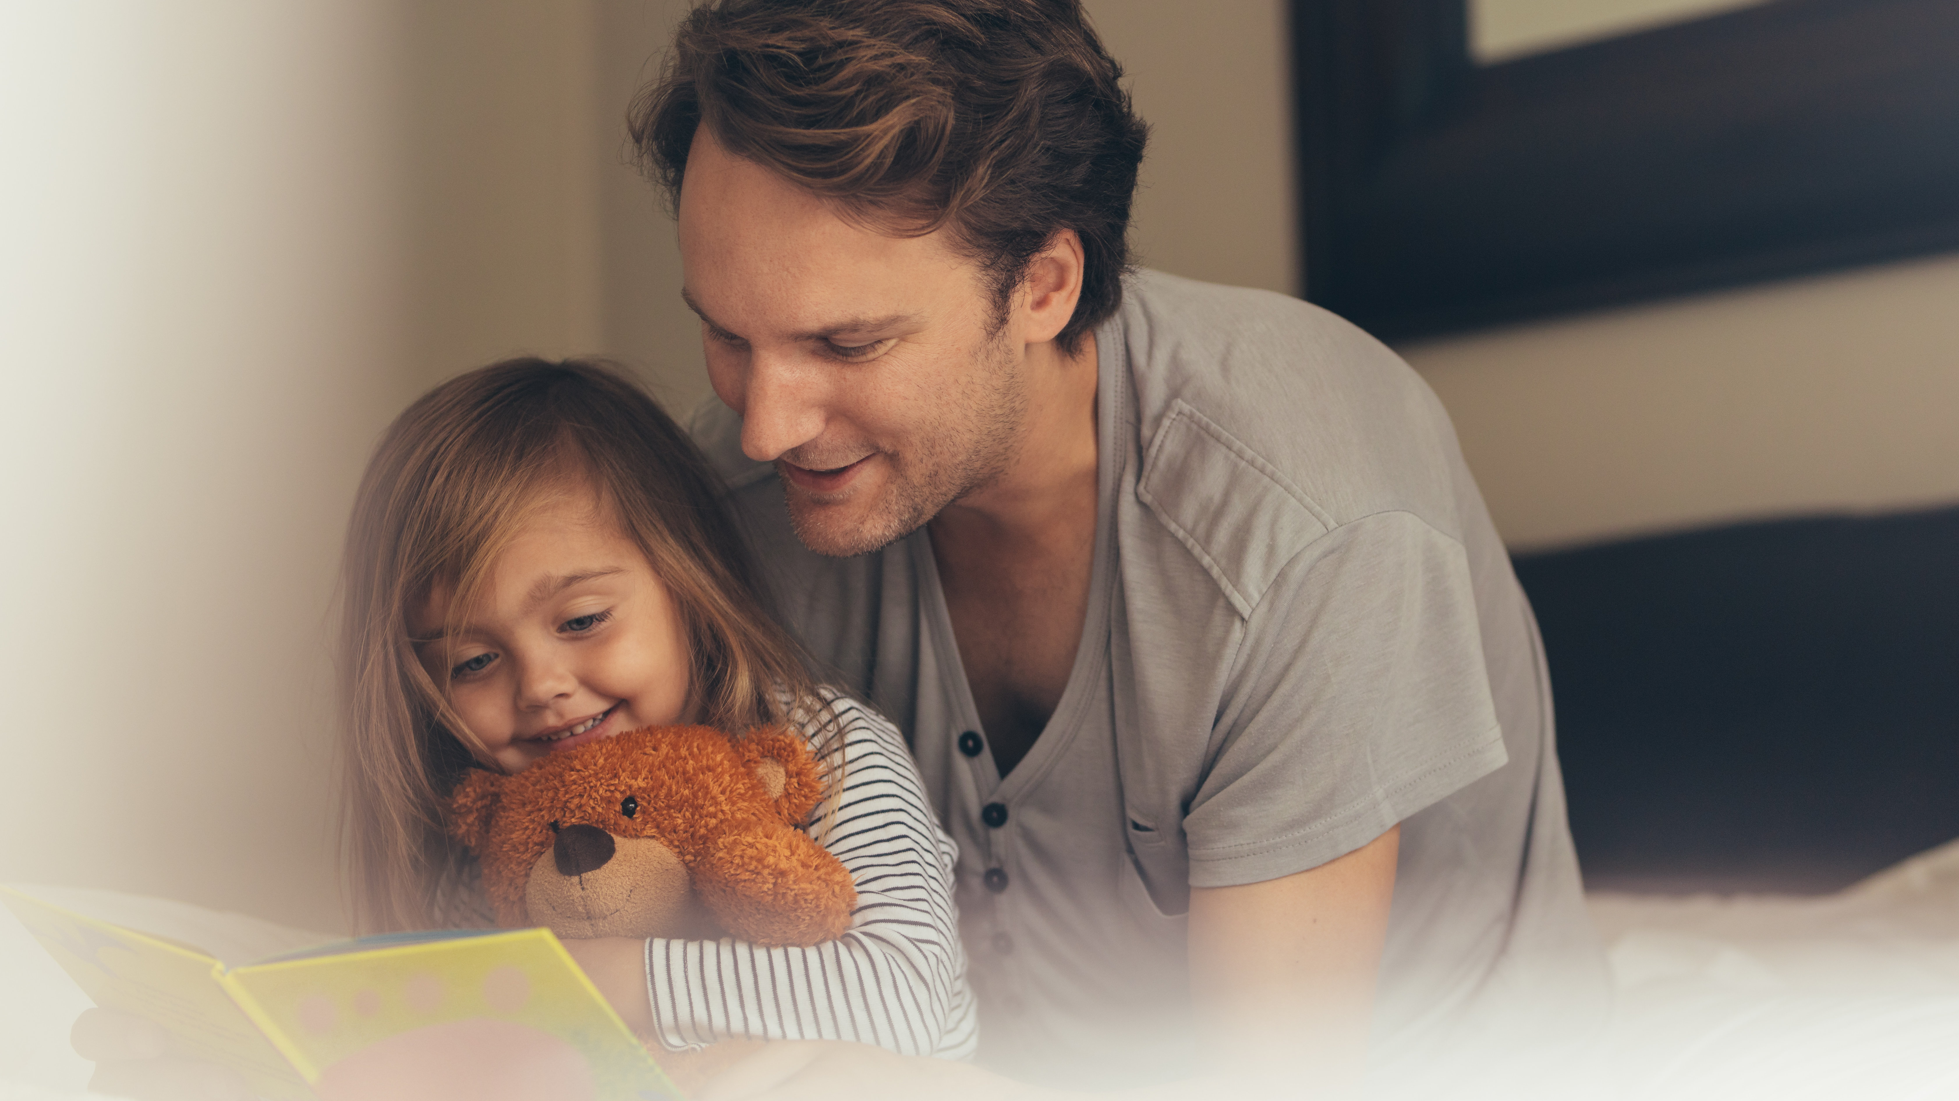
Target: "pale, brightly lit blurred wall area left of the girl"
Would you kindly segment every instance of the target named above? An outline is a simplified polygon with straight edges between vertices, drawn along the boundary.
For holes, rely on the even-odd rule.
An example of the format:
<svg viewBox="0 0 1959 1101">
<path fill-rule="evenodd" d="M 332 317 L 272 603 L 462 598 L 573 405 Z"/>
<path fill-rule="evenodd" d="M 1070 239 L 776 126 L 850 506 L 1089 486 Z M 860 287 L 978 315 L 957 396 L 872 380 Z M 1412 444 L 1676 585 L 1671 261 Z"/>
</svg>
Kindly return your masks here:
<svg viewBox="0 0 1959 1101">
<path fill-rule="evenodd" d="M 411 388 L 394 41 L 0 8 L 0 880 L 337 921 L 327 596 Z"/>
</svg>

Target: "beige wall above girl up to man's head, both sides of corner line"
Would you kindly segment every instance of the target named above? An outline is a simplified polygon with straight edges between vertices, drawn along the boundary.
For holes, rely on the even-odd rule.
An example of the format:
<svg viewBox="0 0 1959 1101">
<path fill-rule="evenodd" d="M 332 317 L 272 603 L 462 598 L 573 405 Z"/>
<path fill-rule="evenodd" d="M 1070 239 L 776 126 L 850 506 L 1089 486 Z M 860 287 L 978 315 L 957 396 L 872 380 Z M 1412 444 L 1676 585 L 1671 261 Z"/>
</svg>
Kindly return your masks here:
<svg viewBox="0 0 1959 1101">
<path fill-rule="evenodd" d="M 413 4 L 417 362 L 605 355 L 676 411 L 707 396 L 680 253 L 629 163 L 627 102 L 688 0 Z"/>
</svg>

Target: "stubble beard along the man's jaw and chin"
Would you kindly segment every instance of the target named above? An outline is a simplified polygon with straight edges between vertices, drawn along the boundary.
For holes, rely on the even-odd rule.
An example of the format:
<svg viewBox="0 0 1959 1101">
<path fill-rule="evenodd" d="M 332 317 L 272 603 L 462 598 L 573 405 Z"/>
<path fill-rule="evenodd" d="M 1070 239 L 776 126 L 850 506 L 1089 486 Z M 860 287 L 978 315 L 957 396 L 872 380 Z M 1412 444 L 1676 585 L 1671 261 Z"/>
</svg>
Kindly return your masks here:
<svg viewBox="0 0 1959 1101">
<path fill-rule="evenodd" d="M 1007 472 L 1021 451 L 1028 400 L 1003 329 L 987 335 L 964 384 L 942 396 L 940 409 L 952 417 L 915 429 L 903 453 L 884 453 L 891 480 L 862 521 L 831 519 L 788 490 L 789 523 L 803 547 L 831 558 L 882 550 Z"/>
</svg>

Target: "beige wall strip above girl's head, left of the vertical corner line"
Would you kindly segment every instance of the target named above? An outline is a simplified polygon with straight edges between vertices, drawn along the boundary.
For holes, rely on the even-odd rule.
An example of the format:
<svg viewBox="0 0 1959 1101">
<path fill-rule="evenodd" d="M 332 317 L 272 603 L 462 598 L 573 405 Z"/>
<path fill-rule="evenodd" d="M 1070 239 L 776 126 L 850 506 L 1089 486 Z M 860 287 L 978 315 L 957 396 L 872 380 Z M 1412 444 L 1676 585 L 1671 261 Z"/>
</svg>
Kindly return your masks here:
<svg viewBox="0 0 1959 1101">
<path fill-rule="evenodd" d="M 594 6 L 396 8 L 417 372 L 597 351 Z"/>
</svg>

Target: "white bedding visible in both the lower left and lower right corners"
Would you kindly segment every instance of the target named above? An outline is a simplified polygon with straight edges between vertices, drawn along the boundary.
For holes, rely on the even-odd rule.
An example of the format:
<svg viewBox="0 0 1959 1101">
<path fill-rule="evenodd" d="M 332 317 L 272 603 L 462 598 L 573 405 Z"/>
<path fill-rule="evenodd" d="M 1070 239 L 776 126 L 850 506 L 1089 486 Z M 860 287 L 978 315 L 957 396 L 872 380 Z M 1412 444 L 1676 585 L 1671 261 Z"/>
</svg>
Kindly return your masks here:
<svg viewBox="0 0 1959 1101">
<path fill-rule="evenodd" d="M 25 887 L 251 960 L 327 940 L 243 915 Z M 1959 842 L 1818 899 L 1599 893 L 1618 985 L 1606 1048 L 1495 1093 L 1569 1101 L 1959 1099 Z M 88 999 L 0 909 L 0 1101 L 84 1097 L 69 1023 Z M 1534 1085 L 1534 1087 L 1532 1087 Z"/>
</svg>

